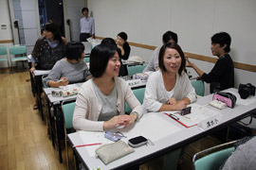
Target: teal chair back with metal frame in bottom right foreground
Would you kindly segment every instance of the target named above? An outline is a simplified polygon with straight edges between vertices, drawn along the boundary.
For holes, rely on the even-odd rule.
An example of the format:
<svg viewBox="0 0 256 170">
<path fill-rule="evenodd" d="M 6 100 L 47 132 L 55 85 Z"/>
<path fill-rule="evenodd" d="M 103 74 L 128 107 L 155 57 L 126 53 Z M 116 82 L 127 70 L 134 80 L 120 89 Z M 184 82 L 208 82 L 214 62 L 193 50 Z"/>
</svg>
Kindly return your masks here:
<svg viewBox="0 0 256 170">
<path fill-rule="evenodd" d="M 235 150 L 233 146 L 235 142 L 219 144 L 194 154 L 192 157 L 193 169 L 218 170 Z"/>
</svg>

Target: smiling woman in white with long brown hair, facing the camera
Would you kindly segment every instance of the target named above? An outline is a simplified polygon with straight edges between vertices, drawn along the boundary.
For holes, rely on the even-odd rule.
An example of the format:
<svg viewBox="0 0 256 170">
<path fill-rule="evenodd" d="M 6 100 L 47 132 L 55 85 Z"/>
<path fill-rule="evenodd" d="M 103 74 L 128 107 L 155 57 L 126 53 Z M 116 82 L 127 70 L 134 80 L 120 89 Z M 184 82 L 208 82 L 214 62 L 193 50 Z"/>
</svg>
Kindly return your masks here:
<svg viewBox="0 0 256 170">
<path fill-rule="evenodd" d="M 184 72 L 186 59 L 180 46 L 168 42 L 159 52 L 159 68 L 148 79 L 143 106 L 147 112 L 182 110 L 196 94 Z"/>
</svg>

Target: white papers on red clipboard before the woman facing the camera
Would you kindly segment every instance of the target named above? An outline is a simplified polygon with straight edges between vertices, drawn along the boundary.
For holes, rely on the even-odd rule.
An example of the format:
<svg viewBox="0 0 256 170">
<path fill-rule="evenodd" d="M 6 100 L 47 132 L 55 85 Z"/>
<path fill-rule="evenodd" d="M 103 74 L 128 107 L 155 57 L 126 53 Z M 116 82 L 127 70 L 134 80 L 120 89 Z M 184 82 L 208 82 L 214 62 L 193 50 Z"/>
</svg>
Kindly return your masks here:
<svg viewBox="0 0 256 170">
<path fill-rule="evenodd" d="M 184 127 L 197 126 L 200 122 L 221 113 L 216 110 L 210 110 L 209 108 L 206 108 L 206 106 L 200 106 L 197 104 L 191 104 L 189 106 L 192 107 L 192 113 L 185 116 L 180 115 L 179 111 L 176 110 L 164 111 L 164 113 Z"/>
</svg>

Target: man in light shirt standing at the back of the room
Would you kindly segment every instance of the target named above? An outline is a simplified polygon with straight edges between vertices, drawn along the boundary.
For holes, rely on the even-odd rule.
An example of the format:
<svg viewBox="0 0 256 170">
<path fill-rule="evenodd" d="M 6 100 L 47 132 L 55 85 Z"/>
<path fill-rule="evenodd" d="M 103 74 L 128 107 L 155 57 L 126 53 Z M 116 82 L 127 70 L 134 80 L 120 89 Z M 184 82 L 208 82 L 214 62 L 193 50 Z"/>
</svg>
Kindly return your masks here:
<svg viewBox="0 0 256 170">
<path fill-rule="evenodd" d="M 95 27 L 94 27 L 94 19 L 93 17 L 89 17 L 89 9 L 82 8 L 82 14 L 84 17 L 80 19 L 80 27 L 81 27 L 81 34 L 80 34 L 80 42 L 87 42 L 86 39 L 92 37 L 95 39 Z"/>
</svg>

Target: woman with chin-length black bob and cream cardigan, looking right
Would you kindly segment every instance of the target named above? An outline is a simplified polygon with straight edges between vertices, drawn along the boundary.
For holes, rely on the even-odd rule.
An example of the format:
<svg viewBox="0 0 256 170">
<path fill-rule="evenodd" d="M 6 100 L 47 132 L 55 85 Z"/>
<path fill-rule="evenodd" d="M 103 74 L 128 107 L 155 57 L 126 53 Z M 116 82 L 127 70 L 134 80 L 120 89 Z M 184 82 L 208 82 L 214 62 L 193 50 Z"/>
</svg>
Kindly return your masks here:
<svg viewBox="0 0 256 170">
<path fill-rule="evenodd" d="M 128 127 L 142 115 L 142 106 L 128 83 L 119 76 L 119 54 L 115 45 L 100 44 L 90 56 L 92 78 L 82 84 L 73 115 L 77 130 L 103 131 Z M 124 112 L 124 103 L 132 108 L 130 115 Z"/>
</svg>

